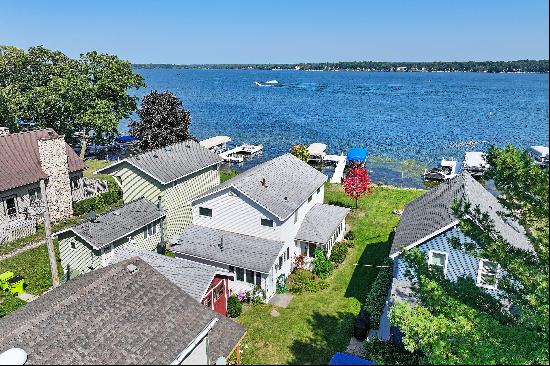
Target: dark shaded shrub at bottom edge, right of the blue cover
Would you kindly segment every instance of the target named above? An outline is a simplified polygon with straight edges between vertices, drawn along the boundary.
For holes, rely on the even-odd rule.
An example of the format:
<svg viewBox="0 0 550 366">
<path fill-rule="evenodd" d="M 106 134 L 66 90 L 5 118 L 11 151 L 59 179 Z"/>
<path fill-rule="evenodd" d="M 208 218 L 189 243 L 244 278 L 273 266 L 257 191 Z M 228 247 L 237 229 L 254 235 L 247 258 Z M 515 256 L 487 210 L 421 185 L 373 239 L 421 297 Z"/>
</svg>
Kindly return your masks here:
<svg viewBox="0 0 550 366">
<path fill-rule="evenodd" d="M 420 352 L 409 352 L 402 345 L 374 338 L 365 342 L 365 358 L 376 365 L 424 365 Z"/>
</svg>

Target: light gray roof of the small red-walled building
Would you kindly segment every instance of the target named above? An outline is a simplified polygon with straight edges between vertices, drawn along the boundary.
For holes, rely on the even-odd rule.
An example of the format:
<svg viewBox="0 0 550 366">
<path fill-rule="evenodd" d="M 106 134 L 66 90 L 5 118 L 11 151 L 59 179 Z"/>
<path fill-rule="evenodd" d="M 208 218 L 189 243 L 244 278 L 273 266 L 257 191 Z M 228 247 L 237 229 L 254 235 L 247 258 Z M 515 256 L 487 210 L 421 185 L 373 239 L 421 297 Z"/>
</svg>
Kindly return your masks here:
<svg viewBox="0 0 550 366">
<path fill-rule="evenodd" d="M 219 268 L 181 258 L 170 258 L 165 255 L 142 249 L 123 247 L 117 249 L 110 264 L 139 257 L 169 279 L 174 285 L 191 295 L 195 300 L 202 298 L 217 274 L 226 274 Z"/>
</svg>

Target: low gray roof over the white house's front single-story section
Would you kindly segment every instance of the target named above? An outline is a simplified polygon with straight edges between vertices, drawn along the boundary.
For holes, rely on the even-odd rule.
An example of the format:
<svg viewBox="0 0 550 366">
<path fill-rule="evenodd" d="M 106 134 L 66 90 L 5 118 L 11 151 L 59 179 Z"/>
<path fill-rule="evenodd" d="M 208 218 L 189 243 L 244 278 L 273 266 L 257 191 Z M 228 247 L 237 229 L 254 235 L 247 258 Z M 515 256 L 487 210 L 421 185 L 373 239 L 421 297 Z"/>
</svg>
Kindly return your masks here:
<svg viewBox="0 0 550 366">
<path fill-rule="evenodd" d="M 189 225 L 172 251 L 269 273 L 284 245 L 282 241 Z"/>
</svg>

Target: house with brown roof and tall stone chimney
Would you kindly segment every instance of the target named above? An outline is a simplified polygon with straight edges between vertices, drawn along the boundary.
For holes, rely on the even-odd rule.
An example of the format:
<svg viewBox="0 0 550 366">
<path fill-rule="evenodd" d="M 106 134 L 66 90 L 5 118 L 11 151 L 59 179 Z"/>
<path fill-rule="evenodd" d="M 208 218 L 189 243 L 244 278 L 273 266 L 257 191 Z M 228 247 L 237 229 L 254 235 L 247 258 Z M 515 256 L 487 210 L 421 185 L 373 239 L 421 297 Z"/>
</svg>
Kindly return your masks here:
<svg viewBox="0 0 550 366">
<path fill-rule="evenodd" d="M 13 240 L 34 232 L 36 220 L 41 220 L 33 205 L 42 199 L 41 180 L 50 219 L 71 217 L 73 196 L 83 190 L 85 168 L 52 129 L 0 135 L 0 243 L 2 233 Z"/>
</svg>

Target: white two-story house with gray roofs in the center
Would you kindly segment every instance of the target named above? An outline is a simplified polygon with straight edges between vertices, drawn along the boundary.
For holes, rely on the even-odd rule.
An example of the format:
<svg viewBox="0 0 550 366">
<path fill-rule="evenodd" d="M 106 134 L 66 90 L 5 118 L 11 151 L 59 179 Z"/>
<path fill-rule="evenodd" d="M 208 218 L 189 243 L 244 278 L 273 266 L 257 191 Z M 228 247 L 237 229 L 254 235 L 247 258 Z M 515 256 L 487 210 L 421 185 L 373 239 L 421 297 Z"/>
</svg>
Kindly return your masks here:
<svg viewBox="0 0 550 366">
<path fill-rule="evenodd" d="M 172 250 L 234 273 L 233 291 L 262 287 L 269 299 L 294 258 L 329 254 L 349 210 L 323 204 L 326 176 L 286 154 L 245 171 L 193 201 L 193 224 Z"/>
</svg>

